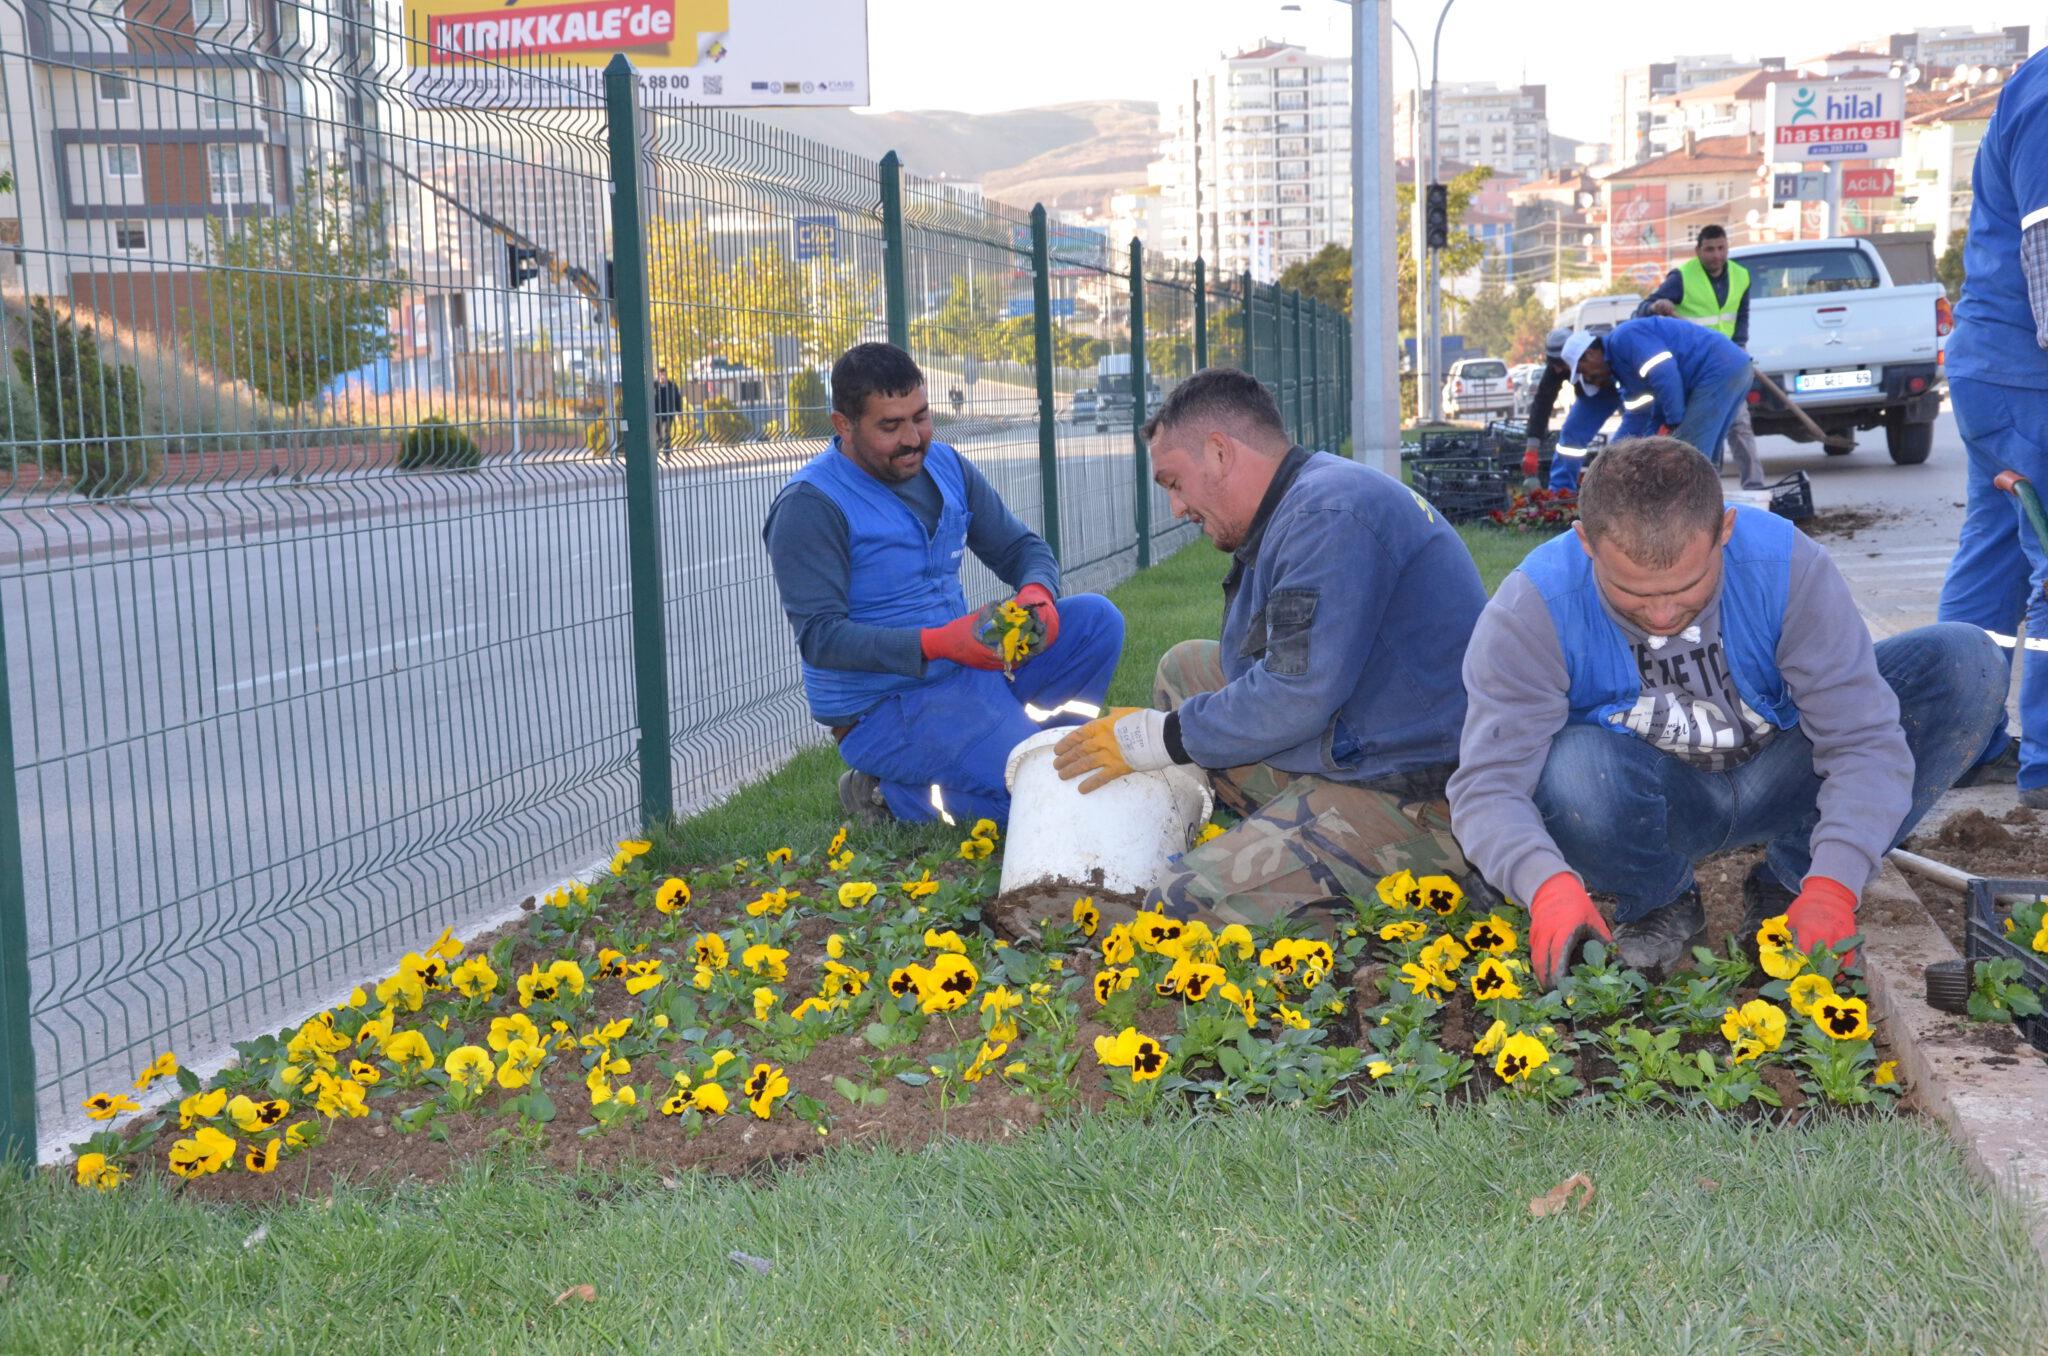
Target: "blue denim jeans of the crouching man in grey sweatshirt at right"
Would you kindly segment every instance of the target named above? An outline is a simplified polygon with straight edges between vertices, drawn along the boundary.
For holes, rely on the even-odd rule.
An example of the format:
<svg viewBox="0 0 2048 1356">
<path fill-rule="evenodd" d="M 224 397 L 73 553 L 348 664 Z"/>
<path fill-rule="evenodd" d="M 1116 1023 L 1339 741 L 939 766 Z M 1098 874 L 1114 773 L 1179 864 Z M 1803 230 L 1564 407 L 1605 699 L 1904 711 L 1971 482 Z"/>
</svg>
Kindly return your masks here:
<svg viewBox="0 0 2048 1356">
<path fill-rule="evenodd" d="M 1878 641 L 1878 674 L 1898 696 L 1913 752 L 1913 807 L 1890 846 L 1956 785 L 2005 709 L 2007 670 L 1978 627 L 1933 625 Z M 1632 922 L 1686 893 L 1704 856 L 1769 844 L 1778 883 L 1796 891 L 1812 860 L 1821 776 L 1800 727 L 1780 729 L 1753 758 L 1706 772 L 1649 741 L 1599 725 L 1567 725 L 1550 741 L 1536 807 L 1585 887 L 1616 897 Z"/>
</svg>

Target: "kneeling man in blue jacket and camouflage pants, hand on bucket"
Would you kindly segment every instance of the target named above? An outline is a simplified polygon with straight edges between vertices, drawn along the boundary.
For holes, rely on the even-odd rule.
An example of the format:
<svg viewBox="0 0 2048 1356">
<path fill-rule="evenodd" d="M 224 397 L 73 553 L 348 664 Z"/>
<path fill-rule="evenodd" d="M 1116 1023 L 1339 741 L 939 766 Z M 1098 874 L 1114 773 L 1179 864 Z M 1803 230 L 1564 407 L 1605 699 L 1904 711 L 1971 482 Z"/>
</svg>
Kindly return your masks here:
<svg viewBox="0 0 2048 1356">
<path fill-rule="evenodd" d="M 1079 725 L 1055 766 L 1087 793 L 1192 764 L 1239 815 L 1169 866 L 1153 907 L 1329 926 L 1397 871 L 1483 889 L 1444 803 L 1487 602 L 1464 543 L 1399 481 L 1292 447 L 1245 373 L 1196 373 L 1145 434 L 1174 512 L 1231 553 L 1223 641 L 1174 645 L 1153 709 Z"/>
</svg>

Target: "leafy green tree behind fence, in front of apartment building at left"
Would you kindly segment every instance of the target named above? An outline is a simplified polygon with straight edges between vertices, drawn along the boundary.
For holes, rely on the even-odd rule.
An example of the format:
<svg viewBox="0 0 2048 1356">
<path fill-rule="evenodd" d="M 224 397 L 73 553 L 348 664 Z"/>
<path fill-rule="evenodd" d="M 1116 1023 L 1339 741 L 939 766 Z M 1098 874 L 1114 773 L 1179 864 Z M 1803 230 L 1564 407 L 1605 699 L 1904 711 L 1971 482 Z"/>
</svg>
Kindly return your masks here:
<svg viewBox="0 0 2048 1356">
<path fill-rule="evenodd" d="M 403 281 L 383 199 L 358 203 L 340 160 L 309 164 L 289 209 L 207 219 L 207 311 L 193 332 L 215 371 L 303 406 L 391 352 Z"/>
</svg>

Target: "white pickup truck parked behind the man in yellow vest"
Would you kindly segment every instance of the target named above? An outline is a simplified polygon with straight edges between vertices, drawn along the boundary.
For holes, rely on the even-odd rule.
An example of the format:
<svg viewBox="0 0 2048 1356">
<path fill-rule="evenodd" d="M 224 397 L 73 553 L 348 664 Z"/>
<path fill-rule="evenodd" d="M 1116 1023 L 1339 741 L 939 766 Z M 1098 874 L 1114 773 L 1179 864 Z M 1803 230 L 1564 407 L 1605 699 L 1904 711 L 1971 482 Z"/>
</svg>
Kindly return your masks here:
<svg viewBox="0 0 2048 1356">
<path fill-rule="evenodd" d="M 1946 387 L 1942 340 L 1954 328 L 1939 283 L 1892 283 L 1868 240 L 1743 246 L 1749 356 L 1827 434 L 1884 428 L 1898 465 L 1927 461 Z M 1761 385 L 1749 393 L 1759 434 L 1810 442 Z M 1847 449 L 1827 449 L 1839 455 Z"/>
</svg>

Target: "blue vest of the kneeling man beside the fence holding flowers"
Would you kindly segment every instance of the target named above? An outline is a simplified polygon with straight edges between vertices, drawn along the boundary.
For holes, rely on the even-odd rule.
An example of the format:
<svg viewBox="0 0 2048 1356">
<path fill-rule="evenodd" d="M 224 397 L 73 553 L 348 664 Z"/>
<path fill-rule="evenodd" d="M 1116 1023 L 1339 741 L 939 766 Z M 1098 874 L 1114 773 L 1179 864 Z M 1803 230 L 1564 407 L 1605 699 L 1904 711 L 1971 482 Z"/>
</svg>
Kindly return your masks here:
<svg viewBox="0 0 2048 1356">
<path fill-rule="evenodd" d="M 813 457 L 793 481 L 815 485 L 846 514 L 852 578 L 846 617 L 866 627 L 938 627 L 967 610 L 961 553 L 967 551 L 967 479 L 961 457 L 944 442 L 926 453 L 924 469 L 938 483 L 938 531 L 924 522 L 840 451 L 840 440 Z M 891 692 L 942 676 L 952 666 L 934 660 L 924 678 L 803 666 L 803 692 L 819 721 L 864 715 Z"/>
</svg>

